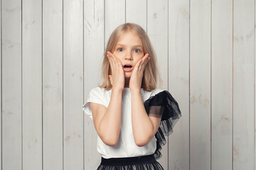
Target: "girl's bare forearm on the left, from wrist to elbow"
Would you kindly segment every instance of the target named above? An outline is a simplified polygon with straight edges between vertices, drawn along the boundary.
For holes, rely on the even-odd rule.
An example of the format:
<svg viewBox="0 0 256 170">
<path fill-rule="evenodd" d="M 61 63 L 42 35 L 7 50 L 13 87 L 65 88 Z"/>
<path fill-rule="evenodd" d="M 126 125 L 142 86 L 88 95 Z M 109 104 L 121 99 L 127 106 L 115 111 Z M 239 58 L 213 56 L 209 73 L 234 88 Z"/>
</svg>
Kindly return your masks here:
<svg viewBox="0 0 256 170">
<path fill-rule="evenodd" d="M 99 131 L 101 136 L 113 145 L 119 138 L 122 120 L 122 91 L 112 89 L 110 104 L 100 121 Z"/>
</svg>

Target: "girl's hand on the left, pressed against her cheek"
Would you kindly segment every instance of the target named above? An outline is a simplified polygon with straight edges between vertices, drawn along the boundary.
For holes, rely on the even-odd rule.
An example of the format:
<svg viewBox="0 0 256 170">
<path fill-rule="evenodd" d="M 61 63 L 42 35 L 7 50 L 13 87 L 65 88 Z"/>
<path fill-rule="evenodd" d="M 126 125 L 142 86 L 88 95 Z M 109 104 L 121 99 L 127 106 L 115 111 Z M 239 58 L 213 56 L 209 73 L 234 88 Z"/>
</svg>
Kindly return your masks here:
<svg viewBox="0 0 256 170">
<path fill-rule="evenodd" d="M 107 58 L 110 61 L 112 71 L 112 75 L 109 75 L 112 89 L 122 91 L 124 89 L 124 69 L 122 63 L 110 51 L 107 51 Z"/>
</svg>

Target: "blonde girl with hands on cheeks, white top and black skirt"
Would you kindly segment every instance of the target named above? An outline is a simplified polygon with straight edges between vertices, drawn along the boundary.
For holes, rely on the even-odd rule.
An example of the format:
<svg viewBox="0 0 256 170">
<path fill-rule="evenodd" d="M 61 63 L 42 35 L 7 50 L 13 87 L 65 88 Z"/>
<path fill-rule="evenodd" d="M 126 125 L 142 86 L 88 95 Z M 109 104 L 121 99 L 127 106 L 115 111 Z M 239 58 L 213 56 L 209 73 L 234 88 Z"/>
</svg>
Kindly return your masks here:
<svg viewBox="0 0 256 170">
<path fill-rule="evenodd" d="M 144 29 L 134 23 L 117 27 L 104 54 L 103 84 L 82 106 L 97 131 L 98 170 L 163 169 L 156 159 L 181 111 L 169 91 L 156 89 L 157 74 Z"/>
</svg>

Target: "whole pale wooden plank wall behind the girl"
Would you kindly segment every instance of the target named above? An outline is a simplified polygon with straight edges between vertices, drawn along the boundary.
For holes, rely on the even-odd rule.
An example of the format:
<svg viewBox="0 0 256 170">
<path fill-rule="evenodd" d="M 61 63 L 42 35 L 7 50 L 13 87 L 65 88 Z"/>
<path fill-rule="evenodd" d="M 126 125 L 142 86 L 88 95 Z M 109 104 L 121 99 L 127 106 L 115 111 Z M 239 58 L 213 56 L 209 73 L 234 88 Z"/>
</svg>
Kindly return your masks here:
<svg viewBox="0 0 256 170">
<path fill-rule="evenodd" d="M 3 170 L 94 170 L 82 113 L 112 30 L 138 23 L 182 117 L 169 170 L 255 170 L 254 0 L 1 0 Z"/>
</svg>

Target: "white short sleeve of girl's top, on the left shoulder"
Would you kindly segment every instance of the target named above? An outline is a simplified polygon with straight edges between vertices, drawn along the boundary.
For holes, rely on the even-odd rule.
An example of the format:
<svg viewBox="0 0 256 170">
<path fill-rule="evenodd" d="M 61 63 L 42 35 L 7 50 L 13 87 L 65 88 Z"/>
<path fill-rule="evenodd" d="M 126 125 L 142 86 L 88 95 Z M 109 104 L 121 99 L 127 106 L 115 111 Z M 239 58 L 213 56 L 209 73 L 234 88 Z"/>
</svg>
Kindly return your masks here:
<svg viewBox="0 0 256 170">
<path fill-rule="evenodd" d="M 87 95 L 87 101 L 82 106 L 82 111 L 84 111 L 84 113 L 89 115 L 92 119 L 92 111 L 89 105 L 90 102 L 102 104 L 103 106 L 107 107 L 103 91 L 100 89 L 100 87 L 95 87 L 90 90 L 89 94 Z"/>
</svg>

